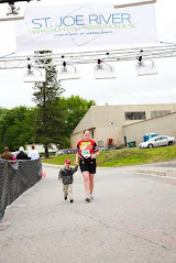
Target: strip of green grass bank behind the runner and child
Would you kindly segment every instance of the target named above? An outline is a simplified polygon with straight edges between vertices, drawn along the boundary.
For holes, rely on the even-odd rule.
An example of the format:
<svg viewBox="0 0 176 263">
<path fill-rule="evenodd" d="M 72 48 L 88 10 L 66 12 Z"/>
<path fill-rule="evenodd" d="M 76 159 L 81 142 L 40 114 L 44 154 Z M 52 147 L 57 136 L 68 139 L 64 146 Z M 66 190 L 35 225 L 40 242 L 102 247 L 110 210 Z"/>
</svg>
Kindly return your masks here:
<svg viewBox="0 0 176 263">
<path fill-rule="evenodd" d="M 75 164 L 75 154 L 56 156 L 44 160 L 44 163 L 63 165 L 69 158 Z M 156 149 L 120 149 L 100 152 L 97 157 L 98 167 L 117 167 L 125 165 L 150 164 L 176 158 L 176 145 Z"/>
</svg>

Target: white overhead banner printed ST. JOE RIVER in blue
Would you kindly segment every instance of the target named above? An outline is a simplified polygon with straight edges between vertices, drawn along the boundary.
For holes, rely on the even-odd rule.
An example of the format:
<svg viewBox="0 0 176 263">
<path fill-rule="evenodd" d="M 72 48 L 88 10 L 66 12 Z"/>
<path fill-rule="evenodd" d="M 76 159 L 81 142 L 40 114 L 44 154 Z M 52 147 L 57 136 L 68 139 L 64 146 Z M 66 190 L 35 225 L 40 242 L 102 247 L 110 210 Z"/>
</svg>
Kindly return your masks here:
<svg viewBox="0 0 176 263">
<path fill-rule="evenodd" d="M 156 43 L 155 7 L 111 4 L 29 7 L 15 22 L 18 52 L 87 51 Z"/>
</svg>

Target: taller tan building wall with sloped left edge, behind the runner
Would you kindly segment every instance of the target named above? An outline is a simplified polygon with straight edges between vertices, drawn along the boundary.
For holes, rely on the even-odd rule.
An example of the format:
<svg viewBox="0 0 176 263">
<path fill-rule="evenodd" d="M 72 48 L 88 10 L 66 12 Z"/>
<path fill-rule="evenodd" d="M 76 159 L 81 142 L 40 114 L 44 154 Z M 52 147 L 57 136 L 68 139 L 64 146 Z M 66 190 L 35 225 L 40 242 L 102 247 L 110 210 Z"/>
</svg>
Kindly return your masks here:
<svg viewBox="0 0 176 263">
<path fill-rule="evenodd" d="M 127 120 L 125 112 L 145 112 L 145 119 L 151 116 L 174 112 L 175 105 L 129 105 L 129 106 L 92 106 L 72 134 L 72 147 L 75 149 L 77 142 L 82 138 L 82 131 L 90 129 L 92 139 L 99 145 L 107 146 L 108 140 L 113 139 L 117 146 L 124 145 L 123 125 L 138 123 L 141 120 Z M 166 112 L 165 112 L 166 113 Z"/>
</svg>

